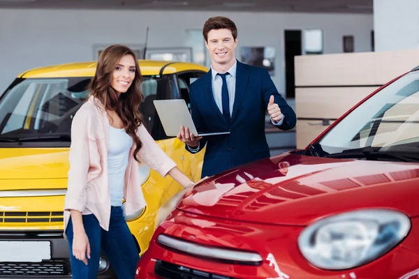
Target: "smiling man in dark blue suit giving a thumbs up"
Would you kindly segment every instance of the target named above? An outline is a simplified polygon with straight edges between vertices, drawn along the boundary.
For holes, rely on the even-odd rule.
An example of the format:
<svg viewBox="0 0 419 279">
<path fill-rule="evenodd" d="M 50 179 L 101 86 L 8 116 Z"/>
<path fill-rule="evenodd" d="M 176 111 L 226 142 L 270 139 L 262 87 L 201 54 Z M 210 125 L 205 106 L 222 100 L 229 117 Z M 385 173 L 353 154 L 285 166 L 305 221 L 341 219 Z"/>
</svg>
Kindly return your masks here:
<svg viewBox="0 0 419 279">
<path fill-rule="evenodd" d="M 210 17 L 203 36 L 211 70 L 191 84 L 191 115 L 198 131 L 228 135 L 194 137 L 181 127 L 177 135 L 186 150 L 199 152 L 207 145 L 202 176 L 270 156 L 265 137 L 265 112 L 281 130 L 295 127 L 293 109 L 278 93 L 265 68 L 235 59 L 237 28 L 227 17 Z"/>
</svg>

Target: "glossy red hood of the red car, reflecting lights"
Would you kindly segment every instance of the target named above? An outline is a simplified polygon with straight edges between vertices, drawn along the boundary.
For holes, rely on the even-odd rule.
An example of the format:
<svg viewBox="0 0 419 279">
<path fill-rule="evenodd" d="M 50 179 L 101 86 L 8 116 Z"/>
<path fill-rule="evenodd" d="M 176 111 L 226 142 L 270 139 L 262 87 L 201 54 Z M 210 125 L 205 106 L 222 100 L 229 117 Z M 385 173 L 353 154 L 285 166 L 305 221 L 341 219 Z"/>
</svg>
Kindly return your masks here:
<svg viewBox="0 0 419 279">
<path fill-rule="evenodd" d="M 251 223 L 308 225 L 332 213 L 397 209 L 419 215 L 419 163 L 281 156 L 200 183 L 177 208 Z"/>
</svg>

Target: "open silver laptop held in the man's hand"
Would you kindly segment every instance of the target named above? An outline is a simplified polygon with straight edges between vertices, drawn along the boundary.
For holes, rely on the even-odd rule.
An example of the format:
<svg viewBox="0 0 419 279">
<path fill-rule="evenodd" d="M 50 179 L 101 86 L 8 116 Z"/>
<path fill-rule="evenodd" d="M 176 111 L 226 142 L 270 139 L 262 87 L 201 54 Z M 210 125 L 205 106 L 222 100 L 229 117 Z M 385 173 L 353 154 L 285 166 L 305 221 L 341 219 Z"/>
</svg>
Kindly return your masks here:
<svg viewBox="0 0 419 279">
<path fill-rule="evenodd" d="M 192 116 L 189 113 L 185 100 L 154 100 L 154 107 L 159 114 L 161 124 L 163 125 L 166 135 L 176 137 L 179 134 L 180 126 L 189 128 L 189 132 L 195 137 L 203 137 L 206 135 L 226 135 L 230 132 L 216 132 L 205 133 L 204 131 L 196 130 L 195 124 L 192 121 Z"/>
</svg>

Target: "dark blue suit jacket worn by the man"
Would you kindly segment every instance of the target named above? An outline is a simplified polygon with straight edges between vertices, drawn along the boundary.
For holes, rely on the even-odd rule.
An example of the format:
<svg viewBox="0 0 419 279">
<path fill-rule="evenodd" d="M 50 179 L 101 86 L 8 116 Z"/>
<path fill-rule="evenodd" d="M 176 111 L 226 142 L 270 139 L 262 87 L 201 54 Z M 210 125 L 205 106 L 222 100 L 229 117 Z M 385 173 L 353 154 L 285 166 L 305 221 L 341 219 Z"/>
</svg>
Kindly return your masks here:
<svg viewBox="0 0 419 279">
<path fill-rule="evenodd" d="M 203 137 L 200 149 L 207 144 L 202 176 L 270 156 L 265 137 L 265 112 L 270 96 L 284 114 L 284 122 L 277 126 L 290 130 L 297 121 L 295 112 L 278 93 L 265 68 L 237 61 L 233 114 L 228 123 L 217 107 L 212 93 L 211 70 L 191 84 L 191 114 L 200 132 L 230 131 L 229 135 Z M 189 151 L 188 148 L 186 150 Z"/>
</svg>

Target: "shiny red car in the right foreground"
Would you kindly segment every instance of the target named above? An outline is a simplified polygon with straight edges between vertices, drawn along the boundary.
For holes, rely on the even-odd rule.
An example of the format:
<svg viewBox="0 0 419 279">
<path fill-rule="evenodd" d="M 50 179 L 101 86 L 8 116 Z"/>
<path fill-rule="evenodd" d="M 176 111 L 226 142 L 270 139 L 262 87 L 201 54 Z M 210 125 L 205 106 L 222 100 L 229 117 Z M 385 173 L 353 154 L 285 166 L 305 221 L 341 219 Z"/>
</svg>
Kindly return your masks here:
<svg viewBox="0 0 419 279">
<path fill-rule="evenodd" d="M 137 278 L 419 278 L 419 68 L 307 149 L 202 181 Z"/>
</svg>

